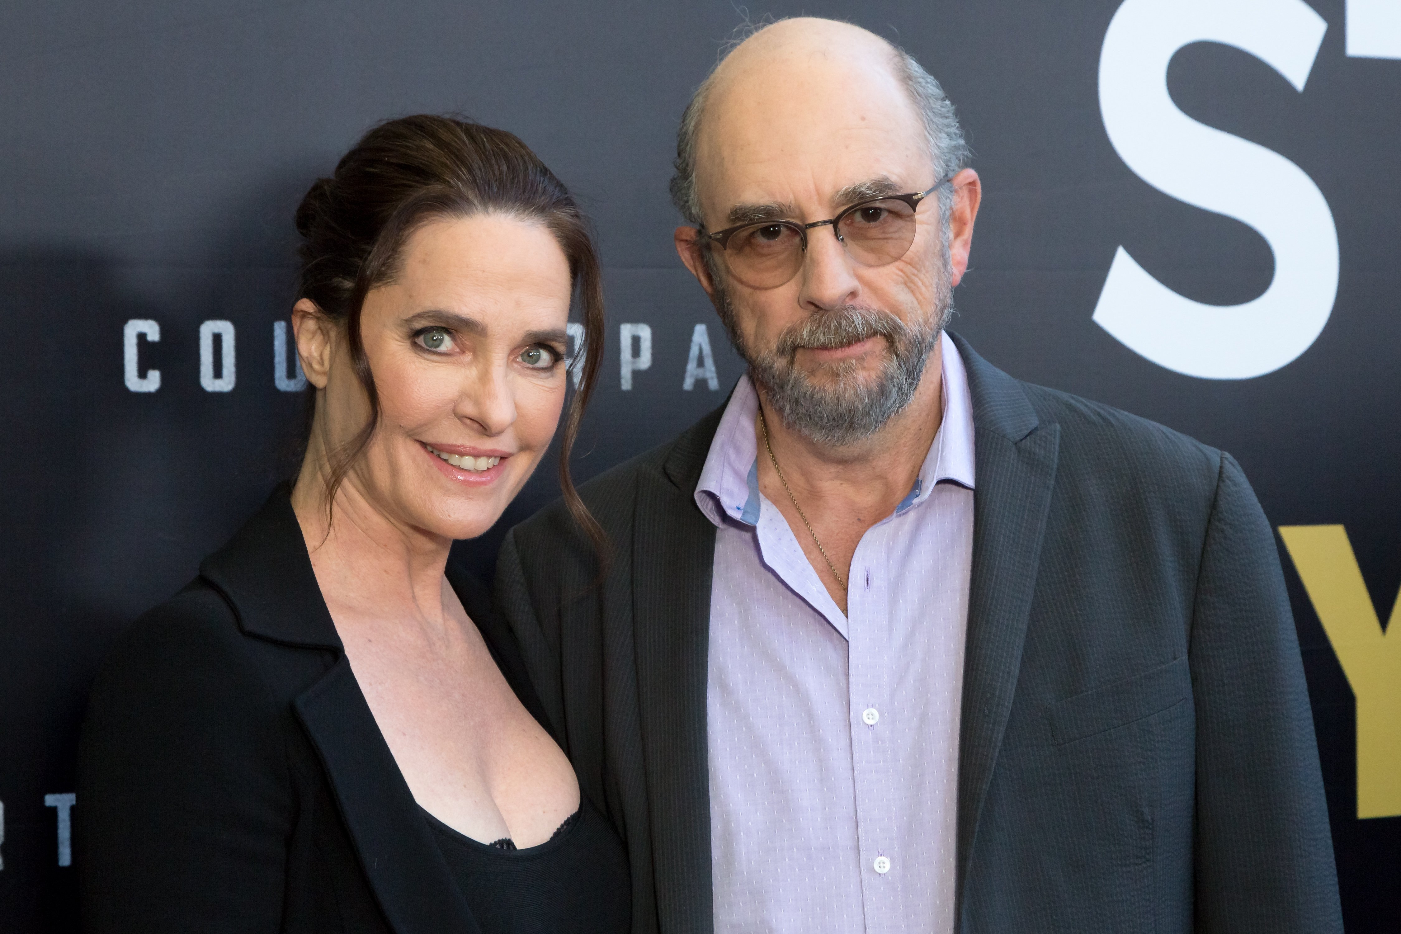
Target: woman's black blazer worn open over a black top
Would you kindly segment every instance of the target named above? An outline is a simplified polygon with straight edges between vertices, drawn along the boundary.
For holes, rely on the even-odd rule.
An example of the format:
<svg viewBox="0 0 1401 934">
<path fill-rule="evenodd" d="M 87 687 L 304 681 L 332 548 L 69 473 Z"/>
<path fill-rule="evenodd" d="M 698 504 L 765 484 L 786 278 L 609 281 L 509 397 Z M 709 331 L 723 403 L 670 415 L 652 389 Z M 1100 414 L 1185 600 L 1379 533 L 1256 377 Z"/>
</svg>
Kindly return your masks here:
<svg viewBox="0 0 1401 934">
<path fill-rule="evenodd" d="M 448 581 L 549 721 L 490 598 Z M 104 662 L 78 752 L 88 931 L 478 931 L 360 693 L 289 489 Z"/>
</svg>

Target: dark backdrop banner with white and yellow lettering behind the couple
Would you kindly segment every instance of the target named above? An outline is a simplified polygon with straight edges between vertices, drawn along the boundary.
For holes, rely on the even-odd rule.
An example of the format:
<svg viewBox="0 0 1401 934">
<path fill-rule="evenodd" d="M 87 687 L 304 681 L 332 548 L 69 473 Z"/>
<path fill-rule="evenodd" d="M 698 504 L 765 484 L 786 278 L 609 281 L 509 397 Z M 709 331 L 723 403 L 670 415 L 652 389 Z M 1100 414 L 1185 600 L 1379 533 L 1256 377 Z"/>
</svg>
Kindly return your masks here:
<svg viewBox="0 0 1401 934">
<path fill-rule="evenodd" d="M 892 39 L 958 106 L 986 196 L 953 328 L 1244 465 L 1279 532 L 1348 930 L 1397 930 L 1395 0 L 11 4 L 0 930 L 76 928 L 92 672 L 293 468 L 291 214 L 311 181 L 380 119 L 460 112 L 579 193 L 611 315 L 591 476 L 740 375 L 672 252 L 675 129 L 738 24 L 799 13 Z M 489 573 L 549 475 L 467 560 Z"/>
</svg>

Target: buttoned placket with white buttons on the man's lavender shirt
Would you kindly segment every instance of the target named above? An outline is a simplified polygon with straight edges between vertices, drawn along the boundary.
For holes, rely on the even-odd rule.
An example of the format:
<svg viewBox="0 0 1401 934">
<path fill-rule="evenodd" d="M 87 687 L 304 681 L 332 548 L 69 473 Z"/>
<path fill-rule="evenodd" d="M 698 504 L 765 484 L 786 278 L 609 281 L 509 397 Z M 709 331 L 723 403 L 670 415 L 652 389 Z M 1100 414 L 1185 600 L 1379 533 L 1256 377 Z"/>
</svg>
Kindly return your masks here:
<svg viewBox="0 0 1401 934">
<path fill-rule="evenodd" d="M 890 805 L 890 749 L 899 711 L 890 703 L 890 587 L 887 520 L 863 536 L 848 584 L 848 672 L 852 766 L 866 930 L 894 931 L 899 917 L 902 853 Z"/>
</svg>

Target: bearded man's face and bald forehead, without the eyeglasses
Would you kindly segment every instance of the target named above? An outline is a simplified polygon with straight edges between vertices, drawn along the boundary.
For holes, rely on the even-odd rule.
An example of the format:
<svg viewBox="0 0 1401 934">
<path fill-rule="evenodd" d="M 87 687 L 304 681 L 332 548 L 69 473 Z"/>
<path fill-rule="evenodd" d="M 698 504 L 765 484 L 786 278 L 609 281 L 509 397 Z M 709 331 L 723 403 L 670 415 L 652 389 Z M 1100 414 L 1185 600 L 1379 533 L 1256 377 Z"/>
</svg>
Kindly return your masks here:
<svg viewBox="0 0 1401 934">
<path fill-rule="evenodd" d="M 734 67 L 712 90 L 702 125 L 696 183 L 708 231 L 752 217 L 827 220 L 873 188 L 922 192 L 939 181 L 888 49 L 835 60 L 780 49 L 737 62 L 744 52 L 726 63 Z M 811 228 L 801 269 L 772 288 L 731 276 L 719 245 L 700 255 L 702 284 L 789 427 L 850 444 L 909 402 L 962 272 L 939 207 L 937 196 L 922 203 L 909 249 L 883 266 L 853 259 L 832 227 Z"/>
</svg>

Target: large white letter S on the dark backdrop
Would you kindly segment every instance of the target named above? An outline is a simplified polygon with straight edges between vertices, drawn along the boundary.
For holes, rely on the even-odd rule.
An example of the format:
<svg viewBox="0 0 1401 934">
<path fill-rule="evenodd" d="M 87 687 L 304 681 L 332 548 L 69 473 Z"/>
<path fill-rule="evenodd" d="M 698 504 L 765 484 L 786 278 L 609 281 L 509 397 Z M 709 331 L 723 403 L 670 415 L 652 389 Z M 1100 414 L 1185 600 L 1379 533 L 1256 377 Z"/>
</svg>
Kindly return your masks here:
<svg viewBox="0 0 1401 934">
<path fill-rule="evenodd" d="M 1125 0 L 1100 52 L 1100 112 L 1119 158 L 1145 182 L 1252 227 L 1275 277 L 1243 305 L 1171 291 L 1122 246 L 1094 321 L 1153 363 L 1203 379 L 1250 379 L 1318 337 L 1338 293 L 1338 231 L 1323 192 L 1285 157 L 1198 123 L 1167 92 L 1191 42 L 1240 48 L 1303 91 L 1328 24 L 1303 0 Z"/>
</svg>

